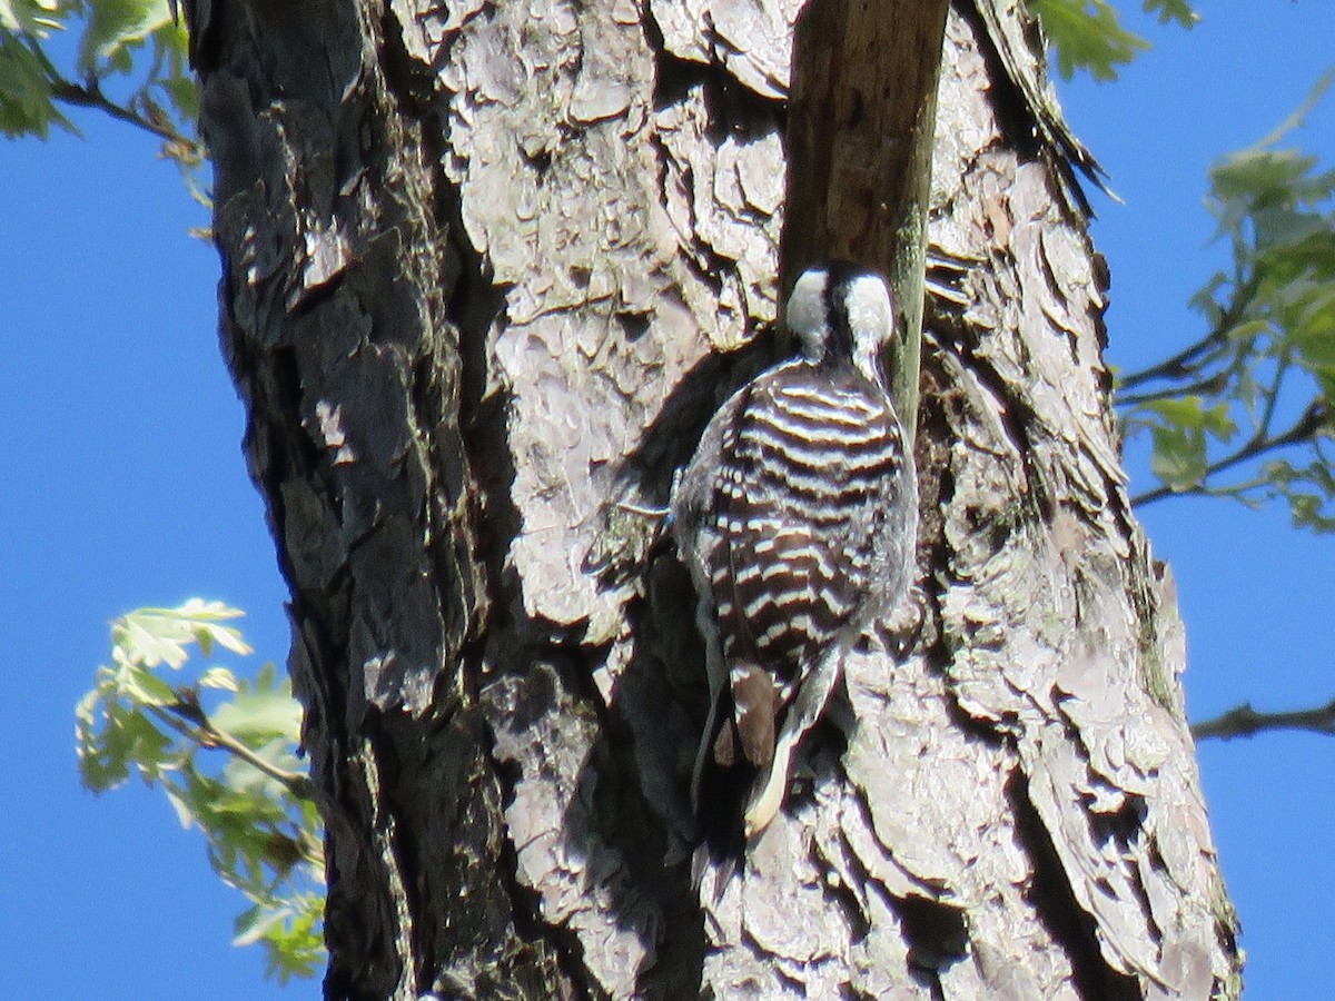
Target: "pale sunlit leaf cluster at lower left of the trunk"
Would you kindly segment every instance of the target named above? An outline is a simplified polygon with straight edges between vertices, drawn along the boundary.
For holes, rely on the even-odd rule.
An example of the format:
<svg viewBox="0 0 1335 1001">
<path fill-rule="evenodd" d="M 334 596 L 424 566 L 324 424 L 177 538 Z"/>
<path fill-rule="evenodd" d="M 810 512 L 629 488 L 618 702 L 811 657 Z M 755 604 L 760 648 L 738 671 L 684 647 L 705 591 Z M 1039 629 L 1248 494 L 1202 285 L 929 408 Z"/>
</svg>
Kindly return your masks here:
<svg viewBox="0 0 1335 1001">
<path fill-rule="evenodd" d="M 224 666 L 182 679 L 191 646 L 206 658 L 216 647 L 251 653 L 226 625 L 240 614 L 191 599 L 116 619 L 111 666 L 75 710 L 79 765 L 97 793 L 131 773 L 163 789 L 182 825 L 204 833 L 218 876 L 250 901 L 234 944 L 262 944 L 270 974 L 286 982 L 324 961 L 324 860 L 296 754 L 300 706 L 272 665 L 248 681 Z"/>
</svg>

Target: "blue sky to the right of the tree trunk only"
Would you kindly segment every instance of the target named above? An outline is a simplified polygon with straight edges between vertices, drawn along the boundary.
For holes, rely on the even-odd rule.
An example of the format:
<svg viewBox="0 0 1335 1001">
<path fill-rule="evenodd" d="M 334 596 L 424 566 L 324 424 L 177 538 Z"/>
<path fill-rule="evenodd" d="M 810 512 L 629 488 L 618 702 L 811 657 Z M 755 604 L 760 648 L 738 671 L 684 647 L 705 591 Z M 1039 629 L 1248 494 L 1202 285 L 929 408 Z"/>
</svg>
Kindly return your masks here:
<svg viewBox="0 0 1335 1001">
<path fill-rule="evenodd" d="M 1184 303 L 1226 260 L 1208 246 L 1214 220 L 1202 208 L 1210 164 L 1268 135 L 1335 65 L 1330 3 L 1200 8 L 1191 32 L 1141 19 L 1155 48 L 1116 84 L 1063 88 L 1072 125 L 1125 200 L 1095 198 L 1093 236 L 1112 268 L 1108 358 L 1127 370 L 1204 332 Z M 1288 141 L 1335 167 L 1335 95 Z M 1144 456 L 1132 450 L 1128 462 L 1133 482 L 1148 483 Z M 1164 500 L 1141 522 L 1177 581 L 1192 718 L 1248 699 L 1274 710 L 1335 697 L 1335 538 L 1292 530 L 1284 509 L 1223 500 Z M 1200 765 L 1243 922 L 1248 998 L 1330 997 L 1335 738 L 1207 741 Z"/>
</svg>

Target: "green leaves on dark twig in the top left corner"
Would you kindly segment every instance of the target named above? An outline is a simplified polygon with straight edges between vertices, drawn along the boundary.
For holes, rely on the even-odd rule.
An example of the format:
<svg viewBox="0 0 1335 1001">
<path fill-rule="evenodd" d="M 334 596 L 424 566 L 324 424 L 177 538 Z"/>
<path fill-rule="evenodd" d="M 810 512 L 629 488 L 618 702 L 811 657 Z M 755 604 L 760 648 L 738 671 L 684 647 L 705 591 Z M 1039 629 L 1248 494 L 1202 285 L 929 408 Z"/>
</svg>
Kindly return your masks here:
<svg viewBox="0 0 1335 1001">
<path fill-rule="evenodd" d="M 0 0 L 0 133 L 45 139 L 53 125 L 77 133 L 68 108 L 104 111 L 162 139 L 163 155 L 203 199 L 199 88 L 174 15 L 168 0 Z M 76 32 L 77 44 L 61 69 L 64 32 Z"/>
</svg>

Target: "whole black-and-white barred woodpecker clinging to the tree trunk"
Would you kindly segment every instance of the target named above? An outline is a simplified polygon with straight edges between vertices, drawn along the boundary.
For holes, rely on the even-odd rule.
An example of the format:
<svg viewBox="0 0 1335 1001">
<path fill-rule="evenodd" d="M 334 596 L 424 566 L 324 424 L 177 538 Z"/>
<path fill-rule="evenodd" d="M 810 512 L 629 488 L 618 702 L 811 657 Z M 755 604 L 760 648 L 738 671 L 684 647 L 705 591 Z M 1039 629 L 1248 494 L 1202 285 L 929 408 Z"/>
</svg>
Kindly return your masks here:
<svg viewBox="0 0 1335 1001">
<path fill-rule="evenodd" d="M 880 366 L 893 322 L 880 275 L 805 271 L 786 308 L 798 356 L 724 403 L 673 488 L 710 690 L 692 803 L 701 817 L 710 755 L 749 763 L 748 840 L 778 811 L 844 657 L 912 583 L 917 479 Z"/>
</svg>

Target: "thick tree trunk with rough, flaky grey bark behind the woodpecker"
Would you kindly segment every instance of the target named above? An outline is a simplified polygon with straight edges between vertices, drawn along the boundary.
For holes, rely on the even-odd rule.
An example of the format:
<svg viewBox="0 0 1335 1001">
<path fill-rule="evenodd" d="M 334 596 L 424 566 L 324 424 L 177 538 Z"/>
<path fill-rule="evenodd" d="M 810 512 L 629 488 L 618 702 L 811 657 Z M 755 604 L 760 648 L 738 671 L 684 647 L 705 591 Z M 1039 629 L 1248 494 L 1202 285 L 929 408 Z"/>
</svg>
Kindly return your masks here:
<svg viewBox="0 0 1335 1001">
<path fill-rule="evenodd" d="M 609 503 L 665 498 L 754 363 L 722 352 L 776 318 L 798 7 L 190 12 L 328 997 L 1239 989 L 1079 148 L 1017 0 L 957 0 L 945 31 L 929 232 L 960 294 L 924 334 L 924 614 L 853 659 L 745 872 L 690 888 L 686 578 L 589 554 L 645 554 Z"/>
</svg>

